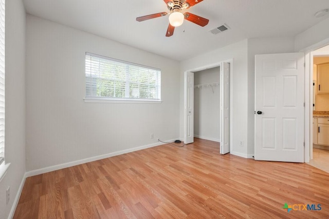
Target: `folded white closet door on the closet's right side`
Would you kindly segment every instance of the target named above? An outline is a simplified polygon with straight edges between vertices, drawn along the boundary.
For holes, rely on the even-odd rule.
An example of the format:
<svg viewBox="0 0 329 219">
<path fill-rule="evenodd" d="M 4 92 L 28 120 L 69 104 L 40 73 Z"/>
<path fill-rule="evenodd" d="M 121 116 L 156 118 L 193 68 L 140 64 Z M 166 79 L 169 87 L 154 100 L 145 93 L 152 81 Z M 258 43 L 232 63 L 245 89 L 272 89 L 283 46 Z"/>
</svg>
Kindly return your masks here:
<svg viewBox="0 0 329 219">
<path fill-rule="evenodd" d="M 230 64 L 221 64 L 221 142 L 220 153 L 230 152 Z"/>
</svg>

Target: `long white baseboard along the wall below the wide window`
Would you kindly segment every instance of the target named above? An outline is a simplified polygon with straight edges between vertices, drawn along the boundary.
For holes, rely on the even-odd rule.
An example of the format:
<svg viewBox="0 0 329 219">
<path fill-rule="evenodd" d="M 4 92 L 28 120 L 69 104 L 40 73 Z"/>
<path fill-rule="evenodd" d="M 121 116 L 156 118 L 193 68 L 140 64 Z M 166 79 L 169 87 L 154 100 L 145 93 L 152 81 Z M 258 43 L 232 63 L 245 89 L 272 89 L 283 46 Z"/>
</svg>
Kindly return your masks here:
<svg viewBox="0 0 329 219">
<path fill-rule="evenodd" d="M 176 139 L 165 140 L 165 141 L 173 142 Z M 45 168 L 41 168 L 41 169 L 37 169 L 37 170 L 28 171 L 25 174 L 26 174 L 26 177 L 35 176 L 35 175 L 39 175 L 39 174 L 43 174 L 43 173 L 48 173 L 48 172 L 51 172 L 51 171 L 60 170 L 60 169 L 67 168 L 67 167 L 73 167 L 73 166 L 76 166 L 76 165 L 81 165 L 82 163 L 92 162 L 92 161 L 95 161 L 95 160 L 100 160 L 100 159 L 104 159 L 104 158 L 108 158 L 108 157 L 113 157 L 113 156 L 117 156 L 117 155 L 121 155 L 121 154 L 126 154 L 126 153 L 130 153 L 130 152 L 134 152 L 134 151 L 139 151 L 139 150 L 143 150 L 143 149 L 147 149 L 147 148 L 156 147 L 156 146 L 159 146 L 159 145 L 162 145 L 162 144 L 166 144 L 166 143 L 157 142 L 157 143 L 143 145 L 143 146 L 136 147 L 136 148 L 126 149 L 126 150 L 112 152 L 112 153 L 108 153 L 108 154 L 102 154 L 102 155 L 95 156 L 95 157 L 89 157 L 89 158 L 85 158 L 85 159 L 81 159 L 81 160 L 62 163 L 62 164 L 59 164 L 59 165 L 54 165 L 54 166 L 51 166 L 51 167 L 45 167 Z"/>
</svg>

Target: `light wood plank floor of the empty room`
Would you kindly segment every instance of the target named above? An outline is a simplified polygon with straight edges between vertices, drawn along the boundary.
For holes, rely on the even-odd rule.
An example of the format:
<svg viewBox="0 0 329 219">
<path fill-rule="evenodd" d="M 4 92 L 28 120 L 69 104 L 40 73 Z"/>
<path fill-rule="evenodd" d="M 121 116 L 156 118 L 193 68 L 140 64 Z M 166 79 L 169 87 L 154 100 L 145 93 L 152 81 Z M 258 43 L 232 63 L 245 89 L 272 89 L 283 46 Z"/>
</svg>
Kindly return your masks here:
<svg viewBox="0 0 329 219">
<path fill-rule="evenodd" d="M 220 155 L 195 139 L 29 177 L 14 218 L 328 218 L 328 185 L 305 163 Z"/>
</svg>

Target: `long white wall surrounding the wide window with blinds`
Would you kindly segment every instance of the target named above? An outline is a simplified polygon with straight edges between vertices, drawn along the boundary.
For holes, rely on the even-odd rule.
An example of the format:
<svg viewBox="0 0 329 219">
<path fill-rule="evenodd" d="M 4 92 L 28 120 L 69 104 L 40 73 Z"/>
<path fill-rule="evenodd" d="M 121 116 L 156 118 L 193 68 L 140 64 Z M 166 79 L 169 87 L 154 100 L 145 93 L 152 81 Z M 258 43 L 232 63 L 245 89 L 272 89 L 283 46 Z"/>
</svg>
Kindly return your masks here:
<svg viewBox="0 0 329 219">
<path fill-rule="evenodd" d="M 163 102 L 84 103 L 86 51 L 160 68 Z M 26 56 L 28 171 L 179 137 L 177 61 L 32 15 Z"/>
</svg>

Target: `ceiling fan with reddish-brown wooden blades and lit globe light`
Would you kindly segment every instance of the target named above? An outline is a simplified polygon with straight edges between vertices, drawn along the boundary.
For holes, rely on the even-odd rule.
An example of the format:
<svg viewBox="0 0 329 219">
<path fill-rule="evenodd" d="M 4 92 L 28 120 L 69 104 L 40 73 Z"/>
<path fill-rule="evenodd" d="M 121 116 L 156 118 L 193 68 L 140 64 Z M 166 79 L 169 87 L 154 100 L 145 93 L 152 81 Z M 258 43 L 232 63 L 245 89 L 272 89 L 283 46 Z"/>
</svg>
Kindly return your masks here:
<svg viewBox="0 0 329 219">
<path fill-rule="evenodd" d="M 160 12 L 156 14 L 149 14 L 141 17 L 137 17 L 136 21 L 146 21 L 149 19 L 154 19 L 156 17 L 166 16 L 169 14 L 169 26 L 167 29 L 166 36 L 172 36 L 174 34 L 175 27 L 182 25 L 185 20 L 193 22 L 194 24 L 200 25 L 202 27 L 206 26 L 209 22 L 208 19 L 204 17 L 200 17 L 198 15 L 185 12 L 184 14 L 181 12 L 184 9 L 188 9 L 203 0 L 163 0 L 166 4 L 170 12 Z"/>
</svg>

